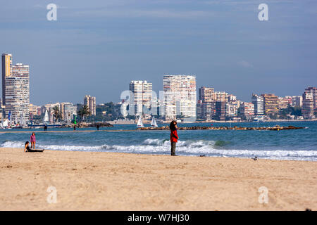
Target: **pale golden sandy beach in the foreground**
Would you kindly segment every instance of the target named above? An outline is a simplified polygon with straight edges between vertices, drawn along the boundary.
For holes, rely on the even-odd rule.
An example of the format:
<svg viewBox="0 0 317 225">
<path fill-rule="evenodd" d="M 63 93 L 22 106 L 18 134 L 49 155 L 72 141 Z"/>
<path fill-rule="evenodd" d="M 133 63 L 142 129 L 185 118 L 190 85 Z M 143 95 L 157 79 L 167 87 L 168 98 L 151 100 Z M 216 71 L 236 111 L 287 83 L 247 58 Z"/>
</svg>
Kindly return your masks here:
<svg viewBox="0 0 317 225">
<path fill-rule="evenodd" d="M 0 148 L 0 165 L 0 210 L 317 210 L 317 162 Z"/>
</svg>

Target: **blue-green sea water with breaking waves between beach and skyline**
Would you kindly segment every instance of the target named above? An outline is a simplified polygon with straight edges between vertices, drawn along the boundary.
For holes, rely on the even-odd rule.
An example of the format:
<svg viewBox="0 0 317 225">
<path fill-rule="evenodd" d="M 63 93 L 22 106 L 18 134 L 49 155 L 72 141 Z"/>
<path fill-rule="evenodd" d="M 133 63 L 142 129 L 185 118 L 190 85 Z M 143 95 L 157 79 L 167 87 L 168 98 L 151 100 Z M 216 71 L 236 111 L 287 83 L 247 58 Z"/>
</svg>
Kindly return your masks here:
<svg viewBox="0 0 317 225">
<path fill-rule="evenodd" d="M 159 127 L 168 124 L 158 124 Z M 296 126 L 306 129 L 258 130 L 178 130 L 177 155 L 235 157 L 275 160 L 317 160 L 317 122 L 259 122 L 259 127 Z M 145 127 L 149 124 L 145 124 Z M 179 127 L 211 126 L 210 123 L 178 124 Z M 213 123 L 213 127 L 258 127 L 258 123 Z M 170 131 L 135 131 L 135 124 L 79 129 L 49 128 L 66 133 L 37 133 L 43 129 L 1 130 L 0 147 L 23 148 L 35 131 L 37 148 L 51 150 L 97 151 L 113 153 L 170 154 Z M 113 130 L 105 132 L 103 130 Z M 117 131 L 120 130 L 120 131 Z M 129 131 L 133 130 L 133 131 Z M 25 131 L 13 133 L 14 131 Z"/>
</svg>

